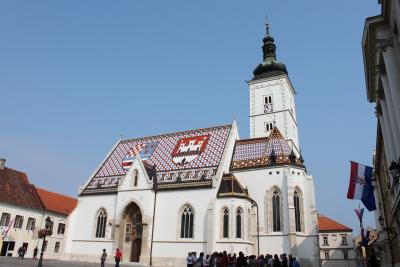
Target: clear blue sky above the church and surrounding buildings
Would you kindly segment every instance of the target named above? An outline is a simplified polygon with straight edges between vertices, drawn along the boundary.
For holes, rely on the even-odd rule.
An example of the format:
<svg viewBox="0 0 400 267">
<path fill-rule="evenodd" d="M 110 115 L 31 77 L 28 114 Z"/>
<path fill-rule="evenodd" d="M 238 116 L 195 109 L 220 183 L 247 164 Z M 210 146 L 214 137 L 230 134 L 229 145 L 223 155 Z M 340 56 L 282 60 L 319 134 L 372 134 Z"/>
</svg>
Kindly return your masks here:
<svg viewBox="0 0 400 267">
<path fill-rule="evenodd" d="M 377 0 L 1 1 L 0 157 L 36 186 L 76 196 L 120 135 L 237 118 L 248 137 L 246 80 L 268 16 L 297 91 L 317 208 L 358 234 L 349 160 L 372 164 L 361 37 L 379 13 Z"/>
</svg>

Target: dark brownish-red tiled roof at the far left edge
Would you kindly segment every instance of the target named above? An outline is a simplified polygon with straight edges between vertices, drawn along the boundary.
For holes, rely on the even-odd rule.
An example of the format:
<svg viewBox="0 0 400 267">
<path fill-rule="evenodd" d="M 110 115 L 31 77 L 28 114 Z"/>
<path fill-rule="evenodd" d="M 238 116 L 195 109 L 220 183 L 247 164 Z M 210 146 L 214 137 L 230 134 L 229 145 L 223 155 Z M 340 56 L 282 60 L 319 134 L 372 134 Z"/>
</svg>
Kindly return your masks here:
<svg viewBox="0 0 400 267">
<path fill-rule="evenodd" d="M 25 173 L 10 168 L 0 169 L 0 202 L 42 210 L 34 185 Z"/>
</svg>

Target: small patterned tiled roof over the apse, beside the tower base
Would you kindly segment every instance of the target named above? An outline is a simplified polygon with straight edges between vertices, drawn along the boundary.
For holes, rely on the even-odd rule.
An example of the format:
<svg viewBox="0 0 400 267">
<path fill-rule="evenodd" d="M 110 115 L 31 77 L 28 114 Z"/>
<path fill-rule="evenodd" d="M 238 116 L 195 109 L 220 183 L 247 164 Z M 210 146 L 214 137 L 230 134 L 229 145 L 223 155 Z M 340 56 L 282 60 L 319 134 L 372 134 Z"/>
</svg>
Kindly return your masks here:
<svg viewBox="0 0 400 267">
<path fill-rule="evenodd" d="M 302 166 L 278 128 L 268 137 L 238 140 L 233 152 L 231 170 L 257 168 L 273 164 Z"/>
</svg>

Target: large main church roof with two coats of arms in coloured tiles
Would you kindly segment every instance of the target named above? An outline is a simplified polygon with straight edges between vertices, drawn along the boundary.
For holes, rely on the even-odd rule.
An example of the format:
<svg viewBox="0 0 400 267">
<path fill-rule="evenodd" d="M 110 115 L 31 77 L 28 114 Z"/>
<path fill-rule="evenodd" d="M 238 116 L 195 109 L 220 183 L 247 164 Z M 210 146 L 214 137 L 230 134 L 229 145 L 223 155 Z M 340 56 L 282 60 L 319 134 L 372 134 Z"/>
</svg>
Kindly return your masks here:
<svg viewBox="0 0 400 267">
<path fill-rule="evenodd" d="M 158 189 L 175 189 L 201 179 L 212 181 L 222 158 L 231 125 L 121 140 L 83 191 L 116 191 L 137 154 L 154 166 Z M 207 183 L 209 184 L 209 183 Z M 200 185 L 199 185 L 200 186 Z"/>
</svg>

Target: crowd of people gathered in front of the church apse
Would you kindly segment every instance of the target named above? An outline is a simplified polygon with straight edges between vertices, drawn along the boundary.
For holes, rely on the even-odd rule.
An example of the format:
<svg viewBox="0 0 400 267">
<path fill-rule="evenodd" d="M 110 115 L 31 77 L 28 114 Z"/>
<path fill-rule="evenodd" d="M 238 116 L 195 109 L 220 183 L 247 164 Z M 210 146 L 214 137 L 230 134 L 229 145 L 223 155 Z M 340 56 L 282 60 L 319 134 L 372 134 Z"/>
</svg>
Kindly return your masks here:
<svg viewBox="0 0 400 267">
<path fill-rule="evenodd" d="M 236 256 L 236 253 L 227 254 L 226 251 L 211 255 L 201 252 L 198 257 L 196 252 L 189 252 L 186 263 L 187 267 L 300 267 L 300 263 L 292 255 L 287 257 L 286 254 L 266 254 L 257 257 L 244 256 L 243 252 L 239 252 Z"/>
</svg>

